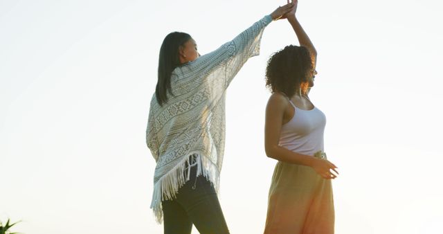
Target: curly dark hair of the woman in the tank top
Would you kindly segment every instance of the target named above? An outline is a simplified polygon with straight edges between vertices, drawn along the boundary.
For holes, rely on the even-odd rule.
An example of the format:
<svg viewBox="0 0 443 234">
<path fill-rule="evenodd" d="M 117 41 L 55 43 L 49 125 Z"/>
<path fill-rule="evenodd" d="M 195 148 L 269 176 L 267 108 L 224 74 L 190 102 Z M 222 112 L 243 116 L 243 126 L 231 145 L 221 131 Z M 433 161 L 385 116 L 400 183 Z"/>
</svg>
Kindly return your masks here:
<svg viewBox="0 0 443 234">
<path fill-rule="evenodd" d="M 291 98 L 309 82 L 311 55 L 304 46 L 286 46 L 271 55 L 266 66 L 266 87 L 272 93 L 281 92 Z"/>
</svg>

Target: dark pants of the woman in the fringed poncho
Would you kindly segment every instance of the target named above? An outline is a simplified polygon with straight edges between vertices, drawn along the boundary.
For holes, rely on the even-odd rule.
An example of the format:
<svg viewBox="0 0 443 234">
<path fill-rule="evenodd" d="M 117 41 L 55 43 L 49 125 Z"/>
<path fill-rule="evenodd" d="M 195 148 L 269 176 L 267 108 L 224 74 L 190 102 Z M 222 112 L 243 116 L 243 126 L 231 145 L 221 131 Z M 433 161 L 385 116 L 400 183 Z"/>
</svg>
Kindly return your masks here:
<svg viewBox="0 0 443 234">
<path fill-rule="evenodd" d="M 197 166 L 192 163 L 190 180 L 179 188 L 177 198 L 161 202 L 165 234 L 190 234 L 192 224 L 200 234 L 228 234 L 214 186 L 203 176 L 195 177 Z"/>
</svg>

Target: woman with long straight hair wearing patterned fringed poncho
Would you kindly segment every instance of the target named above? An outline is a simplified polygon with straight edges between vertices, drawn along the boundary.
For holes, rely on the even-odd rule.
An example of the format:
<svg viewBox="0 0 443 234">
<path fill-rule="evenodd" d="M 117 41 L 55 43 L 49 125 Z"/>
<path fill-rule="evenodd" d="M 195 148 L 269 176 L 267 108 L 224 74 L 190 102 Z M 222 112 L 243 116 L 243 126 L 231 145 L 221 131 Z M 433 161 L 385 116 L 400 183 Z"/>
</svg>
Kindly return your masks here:
<svg viewBox="0 0 443 234">
<path fill-rule="evenodd" d="M 163 40 L 147 125 L 156 160 L 151 208 L 165 233 L 229 233 L 216 191 L 224 154 L 225 91 L 249 57 L 258 55 L 264 28 L 294 7 L 274 10 L 232 41 L 200 56 L 186 33 Z"/>
</svg>

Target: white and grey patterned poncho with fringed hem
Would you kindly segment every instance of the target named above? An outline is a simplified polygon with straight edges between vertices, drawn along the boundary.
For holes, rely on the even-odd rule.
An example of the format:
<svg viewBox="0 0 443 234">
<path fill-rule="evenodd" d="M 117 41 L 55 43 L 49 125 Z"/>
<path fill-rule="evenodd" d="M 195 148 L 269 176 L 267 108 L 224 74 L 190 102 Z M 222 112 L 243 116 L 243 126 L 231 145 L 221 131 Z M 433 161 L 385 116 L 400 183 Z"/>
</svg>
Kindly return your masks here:
<svg viewBox="0 0 443 234">
<path fill-rule="evenodd" d="M 151 208 L 158 222 L 161 201 L 173 199 L 189 180 L 184 173 L 190 155 L 197 155 L 197 176 L 203 174 L 218 191 L 224 154 L 225 91 L 249 57 L 260 53 L 266 15 L 232 41 L 172 72 L 174 96 L 159 105 L 152 96 L 146 141 L 156 160 Z"/>
</svg>

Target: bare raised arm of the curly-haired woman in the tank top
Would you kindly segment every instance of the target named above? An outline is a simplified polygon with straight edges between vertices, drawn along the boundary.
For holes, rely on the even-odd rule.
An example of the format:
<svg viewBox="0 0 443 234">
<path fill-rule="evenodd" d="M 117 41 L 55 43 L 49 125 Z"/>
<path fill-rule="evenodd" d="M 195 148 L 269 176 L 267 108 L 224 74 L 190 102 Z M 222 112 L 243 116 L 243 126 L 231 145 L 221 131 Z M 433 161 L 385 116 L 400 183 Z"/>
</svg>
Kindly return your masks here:
<svg viewBox="0 0 443 234">
<path fill-rule="evenodd" d="M 289 0 L 287 0 L 287 1 L 289 3 Z M 284 16 L 288 19 L 289 24 L 291 24 L 294 32 L 296 33 L 298 42 L 300 43 L 300 46 L 305 46 L 309 50 L 309 52 L 311 53 L 311 60 L 312 60 L 313 67 L 315 69 L 316 62 L 317 62 L 316 48 L 314 47 L 314 44 L 312 44 L 311 39 L 309 39 L 308 35 L 306 34 L 305 30 L 302 28 L 302 26 L 300 25 L 300 22 L 298 22 L 298 19 L 296 17 L 298 0 L 291 0 L 291 3 L 293 3 L 293 6 L 295 6 L 295 7 L 293 8 L 293 10 L 291 10 L 290 12 L 288 12 Z"/>
</svg>

